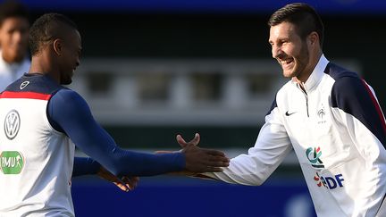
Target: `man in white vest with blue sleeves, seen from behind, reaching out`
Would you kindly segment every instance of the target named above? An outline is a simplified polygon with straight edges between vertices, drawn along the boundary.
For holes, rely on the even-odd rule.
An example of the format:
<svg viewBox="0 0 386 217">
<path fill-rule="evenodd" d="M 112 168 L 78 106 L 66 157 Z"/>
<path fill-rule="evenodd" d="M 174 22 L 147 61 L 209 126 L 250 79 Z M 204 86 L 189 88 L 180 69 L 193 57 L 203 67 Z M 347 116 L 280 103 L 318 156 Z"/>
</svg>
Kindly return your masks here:
<svg viewBox="0 0 386 217">
<path fill-rule="evenodd" d="M 29 46 L 29 73 L 0 95 L 0 216 L 73 216 L 71 176 L 95 174 L 101 166 L 121 178 L 222 171 L 229 165 L 222 152 L 193 145 L 173 154 L 116 146 L 86 101 L 62 86 L 71 83 L 82 48 L 76 25 L 62 14 L 39 17 Z M 95 161 L 73 165 L 74 144 Z"/>
</svg>

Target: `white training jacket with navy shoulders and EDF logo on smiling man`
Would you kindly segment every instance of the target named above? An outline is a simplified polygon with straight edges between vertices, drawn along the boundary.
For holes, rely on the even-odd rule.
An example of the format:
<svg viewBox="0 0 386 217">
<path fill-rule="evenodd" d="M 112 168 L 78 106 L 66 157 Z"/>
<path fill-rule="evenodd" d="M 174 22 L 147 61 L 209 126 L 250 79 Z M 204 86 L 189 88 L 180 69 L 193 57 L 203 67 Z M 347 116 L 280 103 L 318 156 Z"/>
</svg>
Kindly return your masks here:
<svg viewBox="0 0 386 217">
<path fill-rule="evenodd" d="M 293 148 L 318 216 L 386 216 L 386 124 L 373 89 L 324 55 L 304 88 L 285 84 L 248 154 L 204 175 L 261 185 Z"/>
</svg>

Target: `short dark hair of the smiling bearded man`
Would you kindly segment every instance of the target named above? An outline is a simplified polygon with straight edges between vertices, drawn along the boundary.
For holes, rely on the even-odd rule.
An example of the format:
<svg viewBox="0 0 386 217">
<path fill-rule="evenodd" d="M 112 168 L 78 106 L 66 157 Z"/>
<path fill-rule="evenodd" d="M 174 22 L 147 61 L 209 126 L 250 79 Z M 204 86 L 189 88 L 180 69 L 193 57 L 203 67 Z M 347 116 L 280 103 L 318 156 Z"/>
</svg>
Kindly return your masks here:
<svg viewBox="0 0 386 217">
<path fill-rule="evenodd" d="M 312 6 L 304 3 L 287 4 L 271 15 L 268 26 L 273 27 L 286 21 L 297 27 L 298 35 L 302 39 L 306 39 L 306 36 L 315 31 L 319 36 L 320 46 L 323 46 L 323 22 Z"/>
</svg>

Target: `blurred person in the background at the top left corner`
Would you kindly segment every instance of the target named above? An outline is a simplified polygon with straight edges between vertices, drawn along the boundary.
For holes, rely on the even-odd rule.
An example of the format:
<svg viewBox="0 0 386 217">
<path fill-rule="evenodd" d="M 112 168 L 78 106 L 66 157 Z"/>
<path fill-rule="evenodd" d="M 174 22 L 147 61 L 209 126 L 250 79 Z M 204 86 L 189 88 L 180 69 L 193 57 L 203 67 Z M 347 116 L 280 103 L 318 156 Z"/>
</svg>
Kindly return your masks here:
<svg viewBox="0 0 386 217">
<path fill-rule="evenodd" d="M 16 1 L 0 4 L 0 92 L 29 71 L 29 12 Z"/>
</svg>

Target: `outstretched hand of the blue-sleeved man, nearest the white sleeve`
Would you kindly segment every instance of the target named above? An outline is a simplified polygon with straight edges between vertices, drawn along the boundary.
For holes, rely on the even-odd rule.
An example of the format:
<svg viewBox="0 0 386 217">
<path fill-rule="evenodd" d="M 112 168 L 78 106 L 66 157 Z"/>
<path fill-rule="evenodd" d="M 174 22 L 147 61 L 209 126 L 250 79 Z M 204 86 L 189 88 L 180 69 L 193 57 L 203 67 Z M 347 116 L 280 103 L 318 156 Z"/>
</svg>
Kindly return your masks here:
<svg viewBox="0 0 386 217">
<path fill-rule="evenodd" d="M 199 138 L 198 138 L 199 140 Z M 229 158 L 220 151 L 200 148 L 187 143 L 181 150 L 185 154 L 186 170 L 191 172 L 218 172 L 229 166 Z"/>
</svg>

